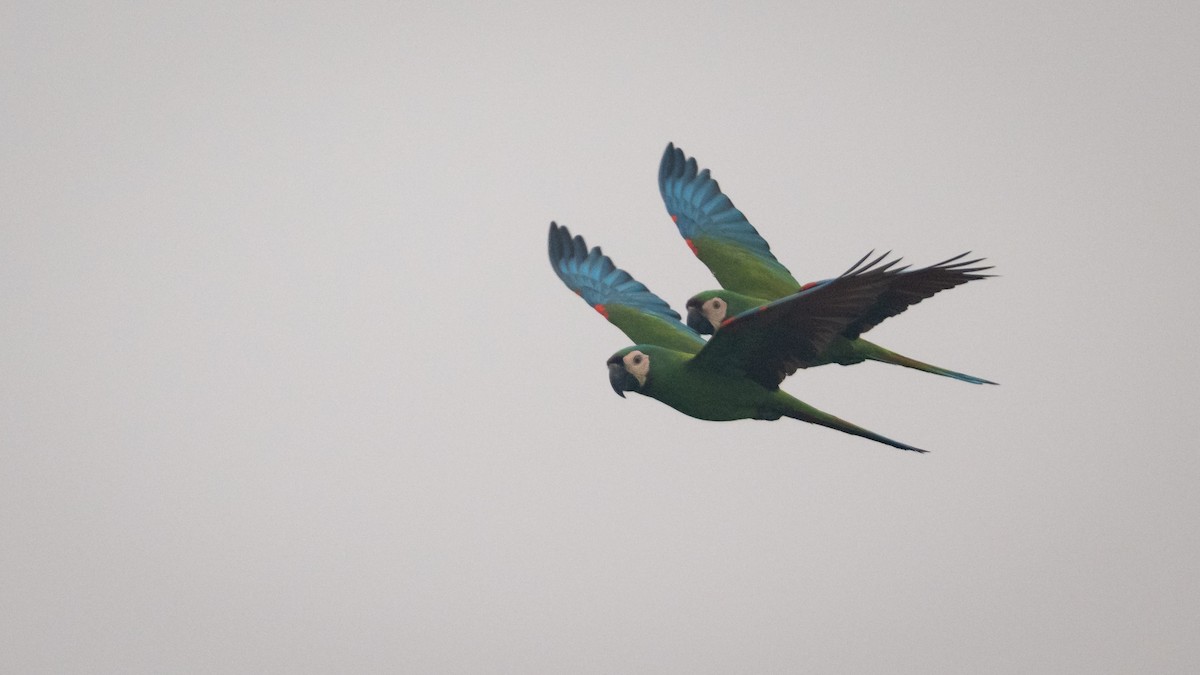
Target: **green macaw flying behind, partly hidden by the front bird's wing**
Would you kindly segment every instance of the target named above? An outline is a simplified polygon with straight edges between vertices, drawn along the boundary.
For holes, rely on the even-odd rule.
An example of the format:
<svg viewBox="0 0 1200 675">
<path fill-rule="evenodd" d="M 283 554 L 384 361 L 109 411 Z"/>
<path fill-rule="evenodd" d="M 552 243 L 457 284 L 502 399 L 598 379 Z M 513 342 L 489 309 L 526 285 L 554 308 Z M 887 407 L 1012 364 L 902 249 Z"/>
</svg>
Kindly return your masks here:
<svg viewBox="0 0 1200 675">
<path fill-rule="evenodd" d="M 659 163 L 659 192 L 688 247 L 708 267 L 722 287 L 720 291 L 697 293 L 688 300 L 688 325 L 698 333 L 713 334 L 730 317 L 820 283 L 798 282 L 775 259 L 758 231 L 721 192 L 709 171 L 697 172 L 696 160 L 685 157 L 683 150 L 673 143 L 667 144 Z M 834 339 L 826 351 L 800 368 L 830 363 L 853 365 L 870 359 L 973 384 L 995 384 L 990 380 L 898 354 L 858 338 L 858 334 L 884 318 L 895 316 L 940 291 L 991 276 L 979 274 L 991 267 L 971 267 L 983 258 L 964 261 L 966 255 L 895 275 L 892 287 L 880 295 L 878 301 L 863 317 L 851 324 L 850 331 Z"/>
</svg>

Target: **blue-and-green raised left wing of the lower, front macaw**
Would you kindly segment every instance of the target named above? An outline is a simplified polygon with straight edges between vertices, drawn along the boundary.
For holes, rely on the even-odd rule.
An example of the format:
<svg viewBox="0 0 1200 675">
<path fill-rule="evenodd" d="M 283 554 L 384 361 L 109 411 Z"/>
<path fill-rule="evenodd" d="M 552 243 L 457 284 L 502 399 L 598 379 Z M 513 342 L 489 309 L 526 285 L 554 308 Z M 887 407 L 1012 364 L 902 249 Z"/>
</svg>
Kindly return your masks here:
<svg viewBox="0 0 1200 675">
<path fill-rule="evenodd" d="M 600 246 L 588 250 L 582 237 L 550 223 L 550 265 L 568 288 L 619 328 L 635 344 L 659 345 L 694 354 L 704 339 L 680 321 L 678 312 L 628 271 L 613 264 Z"/>
</svg>

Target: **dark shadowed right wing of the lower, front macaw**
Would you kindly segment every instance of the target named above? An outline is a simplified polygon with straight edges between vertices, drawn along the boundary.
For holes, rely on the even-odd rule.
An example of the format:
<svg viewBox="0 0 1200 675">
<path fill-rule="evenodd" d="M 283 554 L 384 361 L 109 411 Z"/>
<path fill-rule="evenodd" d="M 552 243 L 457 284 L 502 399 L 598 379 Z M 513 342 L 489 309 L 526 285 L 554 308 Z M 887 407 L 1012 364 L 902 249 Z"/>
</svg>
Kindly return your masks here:
<svg viewBox="0 0 1200 675">
<path fill-rule="evenodd" d="M 689 363 L 689 368 L 745 376 L 776 389 L 817 357 L 847 325 L 878 303 L 896 275 L 899 259 L 887 253 L 859 259 L 845 274 L 727 321 Z"/>
</svg>

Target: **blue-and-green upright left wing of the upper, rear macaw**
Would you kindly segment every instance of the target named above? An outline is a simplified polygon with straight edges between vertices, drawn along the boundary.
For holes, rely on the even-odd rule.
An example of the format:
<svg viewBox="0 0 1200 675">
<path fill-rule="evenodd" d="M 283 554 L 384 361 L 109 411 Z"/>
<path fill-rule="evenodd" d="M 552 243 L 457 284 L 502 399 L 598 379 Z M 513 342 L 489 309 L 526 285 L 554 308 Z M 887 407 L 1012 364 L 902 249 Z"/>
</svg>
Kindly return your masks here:
<svg viewBox="0 0 1200 675">
<path fill-rule="evenodd" d="M 659 163 L 659 192 L 679 234 L 727 291 L 754 298 L 781 298 L 799 291 L 770 245 L 721 192 L 708 169 L 667 144 Z"/>
</svg>

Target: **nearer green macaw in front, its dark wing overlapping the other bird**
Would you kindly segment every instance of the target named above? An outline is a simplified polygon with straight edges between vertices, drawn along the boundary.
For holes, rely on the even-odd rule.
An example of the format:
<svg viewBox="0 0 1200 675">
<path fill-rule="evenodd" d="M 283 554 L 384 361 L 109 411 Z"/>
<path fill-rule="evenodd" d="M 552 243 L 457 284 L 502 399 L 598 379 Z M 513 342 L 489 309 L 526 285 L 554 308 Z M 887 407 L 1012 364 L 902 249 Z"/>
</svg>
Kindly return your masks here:
<svg viewBox="0 0 1200 675">
<path fill-rule="evenodd" d="M 785 377 L 823 352 L 869 310 L 905 268 L 883 257 L 736 316 L 707 342 L 661 298 L 613 264 L 599 246 L 550 223 L 550 263 L 568 288 L 637 345 L 608 359 L 608 381 L 624 398 L 637 392 L 698 419 L 791 417 L 924 453 L 822 412 L 779 389 Z M 653 365 L 652 365 L 653 362 Z"/>
</svg>

